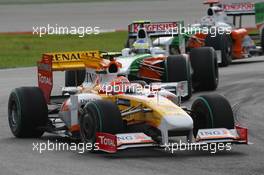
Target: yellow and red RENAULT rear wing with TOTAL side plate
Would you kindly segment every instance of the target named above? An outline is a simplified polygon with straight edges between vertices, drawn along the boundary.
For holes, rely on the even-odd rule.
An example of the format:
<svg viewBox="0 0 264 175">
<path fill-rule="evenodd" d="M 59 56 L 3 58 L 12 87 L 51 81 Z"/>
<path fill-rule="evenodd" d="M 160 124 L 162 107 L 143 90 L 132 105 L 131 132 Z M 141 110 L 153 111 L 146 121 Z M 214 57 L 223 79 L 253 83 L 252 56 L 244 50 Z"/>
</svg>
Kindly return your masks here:
<svg viewBox="0 0 264 175">
<path fill-rule="evenodd" d="M 58 52 L 45 53 L 37 62 L 38 86 L 43 91 L 46 102 L 50 102 L 50 95 L 53 88 L 53 72 L 69 71 L 89 68 L 90 70 L 104 70 L 111 62 L 109 56 L 119 53 L 105 53 L 100 51 L 81 52 Z"/>
</svg>

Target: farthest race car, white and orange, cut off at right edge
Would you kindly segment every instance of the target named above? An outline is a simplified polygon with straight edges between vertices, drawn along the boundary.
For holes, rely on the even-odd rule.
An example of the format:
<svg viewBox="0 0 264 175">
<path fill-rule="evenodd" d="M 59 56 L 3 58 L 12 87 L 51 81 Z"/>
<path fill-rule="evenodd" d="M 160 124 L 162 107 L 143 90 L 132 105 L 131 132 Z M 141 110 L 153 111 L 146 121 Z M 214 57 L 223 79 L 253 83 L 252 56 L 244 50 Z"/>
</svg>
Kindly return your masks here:
<svg viewBox="0 0 264 175">
<path fill-rule="evenodd" d="M 228 66 L 232 59 L 247 58 L 264 52 L 264 33 L 261 28 L 261 23 L 264 21 L 263 2 L 233 0 L 230 3 L 225 0 L 221 2 L 207 0 L 204 4 L 210 5 L 207 16 L 190 26 L 192 32 L 189 33 L 188 48 L 213 47 L 219 55 L 218 62 L 221 66 Z M 244 15 L 256 16 L 260 32 L 257 28 L 242 27 Z M 228 16 L 233 16 L 233 22 L 230 22 Z M 239 17 L 239 24 L 237 24 L 237 17 Z"/>
</svg>

